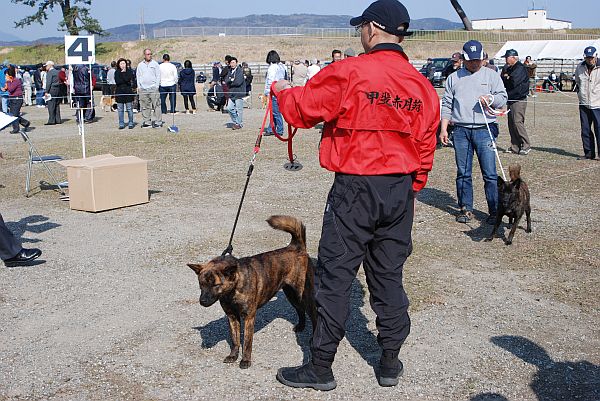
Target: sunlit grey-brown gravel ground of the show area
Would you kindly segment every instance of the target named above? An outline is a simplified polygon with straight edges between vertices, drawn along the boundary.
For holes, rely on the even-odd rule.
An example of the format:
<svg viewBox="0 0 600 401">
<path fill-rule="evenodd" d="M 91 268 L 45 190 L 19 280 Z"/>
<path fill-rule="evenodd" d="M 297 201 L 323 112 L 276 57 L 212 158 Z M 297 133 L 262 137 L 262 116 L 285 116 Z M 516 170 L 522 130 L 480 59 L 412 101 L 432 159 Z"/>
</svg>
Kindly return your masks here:
<svg viewBox="0 0 600 401">
<path fill-rule="evenodd" d="M 181 99 L 179 99 L 181 100 Z M 599 161 L 581 152 L 577 106 L 559 94 L 528 108 L 530 155 L 518 161 L 532 192 L 533 233 L 514 244 L 482 241 L 491 229 L 454 221 L 454 154 L 437 152 L 419 195 L 414 253 L 405 267 L 412 333 L 400 354 L 405 375 L 380 388 L 374 315 L 362 272 L 352 294 L 347 337 L 334 363 L 336 390 L 294 390 L 277 368 L 307 358 L 309 329 L 296 335 L 295 313 L 279 294 L 259 313 L 253 365 L 225 365 L 228 331 L 218 304 L 197 302 L 186 263 L 206 261 L 227 245 L 262 110 L 245 111 L 241 131 L 202 110 L 177 116 L 166 130 L 116 130 L 116 113 L 97 111 L 87 125 L 88 154 L 148 160 L 150 203 L 103 213 L 71 211 L 56 192 L 23 196 L 26 147 L 0 133 L 0 211 L 24 246 L 45 263 L 0 267 L 0 399 L 52 400 L 600 400 Z M 200 103 L 204 105 L 203 99 Z M 180 103 L 181 104 L 181 103 Z M 180 106 L 181 107 L 181 106 Z M 46 111 L 24 110 L 31 137 L 46 154 L 80 157 L 74 118 L 45 127 Z M 137 121 L 140 116 L 136 115 Z M 167 119 L 168 122 L 170 120 Z M 317 160 L 319 133 L 302 131 L 300 172 L 282 169 L 286 148 L 265 138 L 258 155 L 234 253 L 287 244 L 271 214 L 302 219 L 312 255 L 332 174 Z M 500 147 L 508 142 L 501 124 Z M 61 167 L 56 167 L 64 175 Z M 476 208 L 483 185 L 474 168 Z M 36 168 L 34 181 L 46 179 Z"/>
</svg>

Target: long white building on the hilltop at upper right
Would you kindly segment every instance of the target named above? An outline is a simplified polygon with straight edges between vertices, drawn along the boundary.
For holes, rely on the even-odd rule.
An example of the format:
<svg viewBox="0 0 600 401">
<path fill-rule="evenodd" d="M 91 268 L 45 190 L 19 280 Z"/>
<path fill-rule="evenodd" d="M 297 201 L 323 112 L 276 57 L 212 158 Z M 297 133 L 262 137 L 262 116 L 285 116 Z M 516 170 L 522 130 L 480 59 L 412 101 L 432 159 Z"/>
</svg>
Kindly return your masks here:
<svg viewBox="0 0 600 401">
<path fill-rule="evenodd" d="M 527 17 L 476 19 L 473 29 L 571 29 L 571 21 L 548 18 L 546 10 L 529 10 Z"/>
</svg>

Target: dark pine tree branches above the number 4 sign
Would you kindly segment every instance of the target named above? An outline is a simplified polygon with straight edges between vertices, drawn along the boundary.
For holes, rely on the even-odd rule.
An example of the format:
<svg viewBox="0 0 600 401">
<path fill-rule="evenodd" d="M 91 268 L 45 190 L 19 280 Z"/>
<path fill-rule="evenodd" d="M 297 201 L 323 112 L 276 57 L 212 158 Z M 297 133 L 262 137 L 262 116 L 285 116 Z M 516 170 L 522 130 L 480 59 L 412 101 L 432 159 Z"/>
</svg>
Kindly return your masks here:
<svg viewBox="0 0 600 401">
<path fill-rule="evenodd" d="M 90 34 L 107 35 L 98 20 L 90 15 L 87 6 L 92 4 L 92 0 L 11 0 L 11 2 L 32 8 L 37 7 L 35 14 L 15 21 L 15 28 L 23 28 L 33 23 L 43 25 L 48 19 L 48 12 L 54 11 L 54 7 L 60 7 L 63 19 L 58 26 L 61 31 L 67 31 L 69 35 L 79 35 L 81 30 Z"/>
</svg>

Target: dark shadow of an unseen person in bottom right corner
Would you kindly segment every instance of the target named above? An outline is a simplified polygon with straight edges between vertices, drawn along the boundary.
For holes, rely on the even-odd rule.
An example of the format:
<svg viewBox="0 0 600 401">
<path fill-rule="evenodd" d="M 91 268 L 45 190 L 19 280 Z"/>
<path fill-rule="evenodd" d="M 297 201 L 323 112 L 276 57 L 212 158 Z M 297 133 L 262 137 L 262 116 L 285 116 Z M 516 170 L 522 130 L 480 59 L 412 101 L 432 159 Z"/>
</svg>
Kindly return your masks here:
<svg viewBox="0 0 600 401">
<path fill-rule="evenodd" d="M 529 386 L 539 401 L 600 400 L 600 366 L 588 361 L 554 361 L 544 348 L 520 336 L 492 337 L 491 342 L 537 367 Z M 500 395 L 479 394 L 471 401 L 505 399 Z"/>
</svg>

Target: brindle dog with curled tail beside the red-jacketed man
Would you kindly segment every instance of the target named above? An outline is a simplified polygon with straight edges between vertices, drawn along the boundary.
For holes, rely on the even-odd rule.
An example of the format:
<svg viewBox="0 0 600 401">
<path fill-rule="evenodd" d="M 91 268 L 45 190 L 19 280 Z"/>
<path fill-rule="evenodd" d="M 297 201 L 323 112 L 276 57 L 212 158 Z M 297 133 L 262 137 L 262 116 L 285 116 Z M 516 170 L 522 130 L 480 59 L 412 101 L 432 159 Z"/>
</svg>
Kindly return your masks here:
<svg viewBox="0 0 600 401">
<path fill-rule="evenodd" d="M 233 363 L 240 350 L 240 327 L 244 320 L 244 348 L 240 368 L 251 365 L 254 320 L 258 308 L 269 302 L 281 289 L 298 313 L 296 332 L 304 330 L 306 312 L 316 322 L 313 298 L 314 265 L 306 252 L 306 229 L 298 219 L 290 216 L 271 216 L 269 225 L 292 235 L 285 248 L 237 259 L 220 256 L 210 262 L 188 264 L 198 275 L 200 305 L 221 303 L 231 333 L 231 353 L 223 362 Z"/>
</svg>

